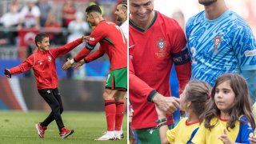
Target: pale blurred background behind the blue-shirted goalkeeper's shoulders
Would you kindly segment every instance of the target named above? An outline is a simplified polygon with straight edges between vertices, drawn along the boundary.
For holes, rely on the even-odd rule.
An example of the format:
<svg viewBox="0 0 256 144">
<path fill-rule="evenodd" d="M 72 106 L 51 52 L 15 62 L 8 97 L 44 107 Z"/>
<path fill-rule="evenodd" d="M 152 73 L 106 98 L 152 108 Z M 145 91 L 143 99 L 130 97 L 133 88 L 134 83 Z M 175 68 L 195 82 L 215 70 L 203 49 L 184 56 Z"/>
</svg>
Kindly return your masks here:
<svg viewBox="0 0 256 144">
<path fill-rule="evenodd" d="M 255 0 L 226 0 L 226 5 L 245 18 L 256 35 Z M 187 20 L 204 10 L 204 7 L 198 3 L 198 0 L 154 0 L 154 9 L 176 19 L 184 27 Z"/>
</svg>

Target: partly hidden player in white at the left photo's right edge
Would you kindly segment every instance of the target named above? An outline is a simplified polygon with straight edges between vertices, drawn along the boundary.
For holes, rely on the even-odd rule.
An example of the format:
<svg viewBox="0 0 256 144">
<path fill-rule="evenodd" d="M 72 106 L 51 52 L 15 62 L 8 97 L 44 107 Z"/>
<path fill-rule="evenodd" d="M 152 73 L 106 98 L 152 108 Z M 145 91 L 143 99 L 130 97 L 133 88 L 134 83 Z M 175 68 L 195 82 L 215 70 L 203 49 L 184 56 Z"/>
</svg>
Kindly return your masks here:
<svg viewBox="0 0 256 144">
<path fill-rule="evenodd" d="M 122 33 L 128 38 L 129 22 L 127 19 L 127 2 L 120 2 L 114 14 L 117 16 L 117 21 L 120 22 Z"/>
</svg>

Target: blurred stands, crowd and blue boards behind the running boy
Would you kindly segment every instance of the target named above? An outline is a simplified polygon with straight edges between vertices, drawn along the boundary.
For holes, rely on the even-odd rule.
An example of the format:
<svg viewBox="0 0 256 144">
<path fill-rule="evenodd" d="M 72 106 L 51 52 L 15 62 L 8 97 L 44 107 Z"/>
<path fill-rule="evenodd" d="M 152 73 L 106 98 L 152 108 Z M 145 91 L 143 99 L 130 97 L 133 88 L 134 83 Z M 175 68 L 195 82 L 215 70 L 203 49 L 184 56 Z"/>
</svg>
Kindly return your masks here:
<svg viewBox="0 0 256 144">
<path fill-rule="evenodd" d="M 0 110 L 50 110 L 38 94 L 33 70 L 10 79 L 3 70 L 18 66 L 34 52 L 34 36 L 39 32 L 49 34 L 51 48 L 90 34 L 92 28 L 85 18 L 87 6 L 99 5 L 103 17 L 115 22 L 118 2 L 122 0 L 1 0 Z M 56 61 L 63 105 L 65 110 L 104 111 L 102 92 L 110 67 L 106 55 L 78 70 L 61 70 L 66 59 L 82 48 L 80 45 Z"/>
</svg>

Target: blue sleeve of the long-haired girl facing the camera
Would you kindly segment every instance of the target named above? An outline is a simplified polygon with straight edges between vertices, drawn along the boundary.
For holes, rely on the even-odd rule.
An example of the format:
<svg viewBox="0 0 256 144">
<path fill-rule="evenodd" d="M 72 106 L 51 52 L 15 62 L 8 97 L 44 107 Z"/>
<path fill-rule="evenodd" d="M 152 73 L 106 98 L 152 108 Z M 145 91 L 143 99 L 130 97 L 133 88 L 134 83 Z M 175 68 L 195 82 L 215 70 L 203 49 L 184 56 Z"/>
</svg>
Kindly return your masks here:
<svg viewBox="0 0 256 144">
<path fill-rule="evenodd" d="M 249 138 L 254 136 L 254 130 L 250 126 L 250 122 L 246 116 L 240 118 L 240 128 L 238 137 L 235 142 L 250 144 Z"/>
</svg>

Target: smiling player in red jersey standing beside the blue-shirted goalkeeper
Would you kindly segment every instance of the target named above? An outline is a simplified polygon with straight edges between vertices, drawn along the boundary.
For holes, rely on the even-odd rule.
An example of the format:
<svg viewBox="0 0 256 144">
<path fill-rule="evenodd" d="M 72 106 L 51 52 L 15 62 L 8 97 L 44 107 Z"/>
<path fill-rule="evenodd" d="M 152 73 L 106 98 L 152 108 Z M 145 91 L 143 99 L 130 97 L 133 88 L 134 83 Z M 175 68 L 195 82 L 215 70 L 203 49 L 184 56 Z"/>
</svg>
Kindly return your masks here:
<svg viewBox="0 0 256 144">
<path fill-rule="evenodd" d="M 182 28 L 154 10 L 154 0 L 130 0 L 129 56 L 131 126 L 139 143 L 161 143 L 155 104 L 168 113 L 167 123 L 173 125 L 171 113 L 179 99 L 170 97 L 170 70 L 174 64 L 181 94 L 190 80 L 191 63 Z"/>
</svg>

